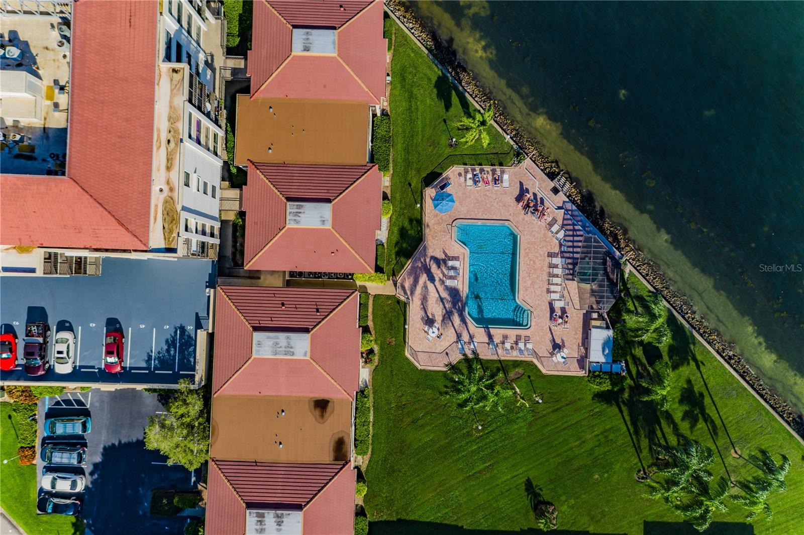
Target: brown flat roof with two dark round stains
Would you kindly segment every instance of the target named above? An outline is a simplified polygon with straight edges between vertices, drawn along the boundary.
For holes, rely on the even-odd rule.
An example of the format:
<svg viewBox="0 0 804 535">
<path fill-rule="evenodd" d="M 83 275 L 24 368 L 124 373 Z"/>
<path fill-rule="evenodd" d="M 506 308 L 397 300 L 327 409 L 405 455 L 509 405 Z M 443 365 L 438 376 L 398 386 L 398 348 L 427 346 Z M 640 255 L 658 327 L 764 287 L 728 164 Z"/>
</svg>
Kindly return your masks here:
<svg viewBox="0 0 804 535">
<path fill-rule="evenodd" d="M 212 402 L 214 459 L 346 461 L 350 441 L 349 399 L 219 396 Z"/>
</svg>

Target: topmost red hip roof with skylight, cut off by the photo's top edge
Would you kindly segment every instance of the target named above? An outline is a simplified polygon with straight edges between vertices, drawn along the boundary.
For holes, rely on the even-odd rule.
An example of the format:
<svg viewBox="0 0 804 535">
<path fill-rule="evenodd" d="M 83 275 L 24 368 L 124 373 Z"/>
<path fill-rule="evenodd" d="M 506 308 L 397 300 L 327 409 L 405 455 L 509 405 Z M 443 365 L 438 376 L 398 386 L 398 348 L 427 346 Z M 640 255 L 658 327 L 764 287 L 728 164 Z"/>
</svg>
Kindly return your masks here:
<svg viewBox="0 0 804 535">
<path fill-rule="evenodd" d="M 254 3 L 253 20 L 254 46 L 248 53 L 252 98 L 379 104 L 385 96 L 387 42 L 382 2 L 262 0 Z M 293 53 L 293 26 L 336 28 L 338 53 Z"/>
</svg>

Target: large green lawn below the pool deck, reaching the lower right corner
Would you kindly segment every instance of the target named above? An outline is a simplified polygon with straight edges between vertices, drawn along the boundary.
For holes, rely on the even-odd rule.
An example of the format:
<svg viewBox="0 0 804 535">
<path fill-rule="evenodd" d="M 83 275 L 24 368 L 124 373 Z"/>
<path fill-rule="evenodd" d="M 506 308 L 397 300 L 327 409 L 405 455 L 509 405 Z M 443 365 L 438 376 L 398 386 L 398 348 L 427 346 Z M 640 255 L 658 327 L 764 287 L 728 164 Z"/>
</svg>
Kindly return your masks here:
<svg viewBox="0 0 804 535">
<path fill-rule="evenodd" d="M 638 301 L 645 288 L 631 282 Z M 652 460 L 650 441 L 675 440 L 671 421 L 658 419 L 631 394 L 633 378 L 623 398 L 607 403 L 593 398 L 584 378 L 544 376 L 529 363 L 506 362 L 509 374 L 523 370 L 516 384 L 525 397 L 535 390 L 544 403 L 525 408 L 511 402 L 502 414 L 478 413 L 478 431 L 471 413 L 441 396 L 445 374 L 416 370 L 405 357 L 404 304 L 375 296 L 373 318 L 379 366 L 372 379 L 374 428 L 364 501 L 372 535 L 522 533 L 535 526 L 527 478 L 556 504 L 560 530 L 697 533 L 679 524 L 667 505 L 645 497 L 646 487 L 634 480 L 641 464 Z M 707 533 L 801 533 L 804 448 L 675 318 L 670 323 L 672 341 L 629 351 L 629 365 L 632 372 L 645 366 L 644 353 L 671 357 L 677 368 L 672 421 L 683 434 L 720 451 L 724 460 L 716 451 L 713 474 L 723 474 L 724 464 L 735 479 L 756 472 L 729 455 L 729 436 L 744 453 L 764 447 L 793 462 L 787 492 L 769 499 L 773 521 L 754 521 L 754 532 L 742 524 L 742 510 L 728 502 L 730 511 L 716 515 Z"/>
</svg>

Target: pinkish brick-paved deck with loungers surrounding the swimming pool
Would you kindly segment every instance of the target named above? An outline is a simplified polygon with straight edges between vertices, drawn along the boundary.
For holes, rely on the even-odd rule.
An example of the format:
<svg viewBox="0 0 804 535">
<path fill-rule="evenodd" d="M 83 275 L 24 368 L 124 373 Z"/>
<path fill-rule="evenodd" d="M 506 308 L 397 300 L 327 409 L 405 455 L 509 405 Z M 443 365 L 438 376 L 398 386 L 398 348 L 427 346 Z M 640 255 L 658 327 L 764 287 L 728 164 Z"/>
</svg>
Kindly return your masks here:
<svg viewBox="0 0 804 535">
<path fill-rule="evenodd" d="M 561 256 L 572 263 L 573 243 L 582 235 L 561 209 L 567 199 L 563 194 L 552 194 L 552 183 L 541 171 L 527 161 L 517 168 L 485 168 L 491 174 L 507 173 L 510 187 L 466 186 L 466 172 L 482 170 L 457 166 L 449 169 L 433 186 L 427 188 L 422 200 L 424 239 L 408 266 L 397 280 L 396 295 L 408 302 L 406 353 L 413 363 L 424 370 L 444 370 L 450 362 L 461 358 L 459 340 L 465 341 L 470 352 L 472 340 L 480 357 L 506 360 L 533 361 L 545 374 L 584 375 L 588 371 L 585 357 L 585 333 L 593 312 L 580 310 L 578 287 L 574 280 L 564 280 L 565 306 L 554 306 L 548 296 L 548 273 L 551 256 Z M 438 186 L 447 180 L 446 189 L 455 198 L 455 206 L 446 214 L 433 208 L 433 195 Z M 539 194 L 548 206 L 544 221 L 523 214 L 518 202 L 524 194 Z M 552 218 L 562 224 L 565 231 L 562 245 L 549 232 L 545 223 Z M 463 221 L 510 223 L 519 233 L 519 295 L 518 299 L 531 309 L 529 329 L 478 327 L 466 317 L 465 292 L 468 285 L 468 259 L 464 247 L 453 239 L 454 225 Z M 448 259 L 459 259 L 457 285 L 445 284 Z M 569 270 L 571 271 L 571 270 Z M 553 312 L 561 317 L 569 314 L 568 325 L 550 325 Z M 425 330 L 425 321 L 432 318 L 441 331 L 441 338 L 431 337 Z M 517 341 L 530 337 L 532 351 L 520 353 Z M 494 345 L 490 341 L 494 341 Z M 513 342 L 506 351 L 503 341 Z M 564 364 L 553 361 L 551 351 L 564 347 L 567 360 Z M 532 354 L 530 354 L 532 353 Z"/>
</svg>

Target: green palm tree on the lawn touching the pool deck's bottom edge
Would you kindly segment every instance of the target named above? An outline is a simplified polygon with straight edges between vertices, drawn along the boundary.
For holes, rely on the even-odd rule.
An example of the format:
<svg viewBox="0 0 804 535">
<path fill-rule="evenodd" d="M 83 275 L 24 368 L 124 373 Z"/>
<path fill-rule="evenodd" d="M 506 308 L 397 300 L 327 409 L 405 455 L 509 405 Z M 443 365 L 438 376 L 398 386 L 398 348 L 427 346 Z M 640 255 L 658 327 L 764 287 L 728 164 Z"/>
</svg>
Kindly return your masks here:
<svg viewBox="0 0 804 535">
<path fill-rule="evenodd" d="M 503 399 L 511 394 L 511 390 L 503 389 L 498 381 L 500 370 L 483 371 L 477 353 L 465 360 L 466 370 L 456 364 L 449 365 L 446 397 L 456 401 L 457 406 L 464 410 L 496 408 L 502 411 Z"/>
</svg>

